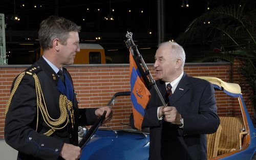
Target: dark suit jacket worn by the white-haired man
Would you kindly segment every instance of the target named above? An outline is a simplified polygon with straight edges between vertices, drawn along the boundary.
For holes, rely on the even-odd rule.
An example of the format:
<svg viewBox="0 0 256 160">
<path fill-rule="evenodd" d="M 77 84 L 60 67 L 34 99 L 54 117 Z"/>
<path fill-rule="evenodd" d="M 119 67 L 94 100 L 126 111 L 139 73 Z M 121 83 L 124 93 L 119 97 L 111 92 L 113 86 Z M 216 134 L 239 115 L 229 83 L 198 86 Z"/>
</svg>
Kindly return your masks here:
<svg viewBox="0 0 256 160">
<path fill-rule="evenodd" d="M 165 82 L 158 80 L 156 85 L 165 97 Z M 158 120 L 157 108 L 162 103 L 153 89 L 142 123 L 142 127 L 150 127 L 149 159 L 207 159 L 205 134 L 216 132 L 220 123 L 212 85 L 184 73 L 168 104 L 175 106 L 182 115 L 183 129 Z M 132 116 L 130 121 L 133 125 Z"/>
</svg>

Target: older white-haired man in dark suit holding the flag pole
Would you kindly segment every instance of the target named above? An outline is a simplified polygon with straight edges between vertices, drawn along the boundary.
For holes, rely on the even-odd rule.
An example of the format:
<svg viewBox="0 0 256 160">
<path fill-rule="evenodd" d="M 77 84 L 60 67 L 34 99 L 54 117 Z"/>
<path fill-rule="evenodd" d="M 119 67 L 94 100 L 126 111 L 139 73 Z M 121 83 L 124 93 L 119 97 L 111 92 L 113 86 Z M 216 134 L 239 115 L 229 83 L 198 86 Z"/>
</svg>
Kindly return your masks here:
<svg viewBox="0 0 256 160">
<path fill-rule="evenodd" d="M 156 81 L 167 107 L 154 89 L 142 127 L 150 127 L 151 160 L 207 159 L 206 135 L 220 120 L 212 85 L 184 71 L 185 52 L 176 42 L 160 44 L 155 55 Z M 131 116 L 133 126 L 133 116 Z M 134 126 L 133 126 L 134 127 Z"/>
</svg>

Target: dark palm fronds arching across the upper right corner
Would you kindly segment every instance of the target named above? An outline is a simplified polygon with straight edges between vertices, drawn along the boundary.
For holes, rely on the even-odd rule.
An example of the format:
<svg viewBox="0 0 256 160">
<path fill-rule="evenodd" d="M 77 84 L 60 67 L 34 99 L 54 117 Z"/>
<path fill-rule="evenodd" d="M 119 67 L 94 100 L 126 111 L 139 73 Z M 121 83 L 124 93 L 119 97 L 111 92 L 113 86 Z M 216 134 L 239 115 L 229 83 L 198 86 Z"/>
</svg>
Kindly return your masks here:
<svg viewBox="0 0 256 160">
<path fill-rule="evenodd" d="M 177 41 L 181 44 L 191 41 L 204 42 L 209 37 L 216 37 L 221 34 L 237 35 L 239 33 L 255 43 L 254 26 L 256 23 L 253 22 L 256 21 L 256 17 L 252 16 L 255 11 L 245 14 L 243 9 L 243 7 L 231 5 L 206 12 L 193 20 L 186 31 L 177 38 Z M 232 39 L 232 36 L 230 38 Z"/>
</svg>

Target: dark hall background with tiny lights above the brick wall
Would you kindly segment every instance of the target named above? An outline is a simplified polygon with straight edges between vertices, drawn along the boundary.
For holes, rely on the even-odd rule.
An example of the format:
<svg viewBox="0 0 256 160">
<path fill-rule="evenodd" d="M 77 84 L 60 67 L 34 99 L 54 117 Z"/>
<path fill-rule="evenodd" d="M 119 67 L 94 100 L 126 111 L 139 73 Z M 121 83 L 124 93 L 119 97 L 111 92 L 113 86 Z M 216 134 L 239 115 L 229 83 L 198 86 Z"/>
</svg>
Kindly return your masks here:
<svg viewBox="0 0 256 160">
<path fill-rule="evenodd" d="M 193 19 L 207 11 L 207 7 L 212 9 L 232 4 L 232 1 L 165 0 L 164 3 L 164 41 L 167 41 L 175 40 Z M 187 3 L 189 7 L 185 6 Z M 0 13 L 5 14 L 8 64 L 32 64 L 36 61 L 40 48 L 37 38 L 39 24 L 50 15 L 63 16 L 80 25 L 80 42 L 101 44 L 106 56 L 112 58 L 112 63 L 129 63 L 125 33 L 133 32 L 133 39 L 145 62 L 154 62 L 158 45 L 157 0 L 1 0 Z M 110 13 L 114 20 L 105 19 Z M 15 16 L 19 20 L 15 20 Z M 201 51 L 207 48 L 200 43 L 185 47 L 186 62 L 203 56 Z"/>
</svg>

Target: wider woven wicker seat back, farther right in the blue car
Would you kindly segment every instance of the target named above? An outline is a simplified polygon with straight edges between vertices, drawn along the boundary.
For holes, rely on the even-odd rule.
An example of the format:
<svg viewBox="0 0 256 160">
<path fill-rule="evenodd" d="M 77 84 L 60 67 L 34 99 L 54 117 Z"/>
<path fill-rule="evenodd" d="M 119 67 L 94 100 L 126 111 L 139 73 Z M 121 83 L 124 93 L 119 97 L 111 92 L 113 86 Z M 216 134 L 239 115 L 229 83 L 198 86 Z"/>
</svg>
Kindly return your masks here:
<svg viewBox="0 0 256 160">
<path fill-rule="evenodd" d="M 218 155 L 239 149 L 240 131 L 244 128 L 242 117 L 220 117 L 221 134 Z"/>
</svg>

